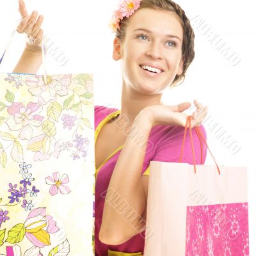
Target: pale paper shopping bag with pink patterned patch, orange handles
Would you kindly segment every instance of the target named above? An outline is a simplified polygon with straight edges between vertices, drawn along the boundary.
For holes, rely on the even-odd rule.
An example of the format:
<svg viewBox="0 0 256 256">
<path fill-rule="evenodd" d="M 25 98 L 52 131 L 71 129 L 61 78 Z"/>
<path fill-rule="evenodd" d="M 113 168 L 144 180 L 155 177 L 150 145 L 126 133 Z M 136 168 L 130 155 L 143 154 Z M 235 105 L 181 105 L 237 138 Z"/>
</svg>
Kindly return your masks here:
<svg viewBox="0 0 256 256">
<path fill-rule="evenodd" d="M 249 255 L 246 168 L 217 167 L 151 161 L 146 256 Z"/>
</svg>

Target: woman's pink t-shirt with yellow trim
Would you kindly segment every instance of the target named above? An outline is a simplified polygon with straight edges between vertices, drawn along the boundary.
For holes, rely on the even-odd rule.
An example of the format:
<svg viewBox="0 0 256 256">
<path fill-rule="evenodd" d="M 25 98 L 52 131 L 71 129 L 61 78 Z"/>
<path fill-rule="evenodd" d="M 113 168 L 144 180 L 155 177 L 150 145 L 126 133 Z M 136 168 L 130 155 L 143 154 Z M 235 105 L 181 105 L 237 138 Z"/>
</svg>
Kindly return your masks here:
<svg viewBox="0 0 256 256">
<path fill-rule="evenodd" d="M 95 106 L 95 131 L 102 127 L 102 123 L 109 120 L 111 114 L 119 113 L 118 109 L 106 108 L 104 106 Z M 117 115 L 115 115 L 117 116 Z M 106 119 L 107 118 L 107 119 Z M 99 125 L 99 127 L 98 127 Z M 206 140 L 206 133 L 203 125 L 199 127 Z M 98 131 L 100 132 L 100 131 Z M 193 144 L 195 150 L 196 164 L 201 164 L 201 146 L 195 129 L 192 129 Z M 170 125 L 156 125 L 150 131 L 148 147 L 145 153 L 144 163 L 141 170 L 141 175 L 147 170 L 150 161 L 173 162 L 179 163 L 180 150 L 182 146 L 182 139 L 184 136 L 184 127 L 170 126 Z M 203 163 L 205 163 L 207 148 L 203 145 Z M 125 252 L 137 253 L 141 252 L 143 255 L 145 239 L 145 231 L 141 234 L 129 239 L 129 241 L 118 246 L 111 246 L 101 243 L 99 241 L 99 230 L 102 222 L 102 213 L 104 208 L 104 196 L 109 186 L 111 175 L 115 168 L 116 161 L 120 155 L 122 148 L 118 150 L 112 157 L 104 163 L 99 170 L 97 170 L 97 177 L 95 182 L 95 256 L 108 256 L 108 251 L 111 252 Z M 191 142 L 189 138 L 189 130 L 186 134 L 186 141 L 184 145 L 184 153 L 182 156 L 182 163 L 193 164 L 193 156 L 191 150 Z M 129 173 L 127 173 L 129 175 Z M 101 195 L 102 194 L 102 195 Z M 115 255 L 115 254 L 113 254 Z"/>
</svg>

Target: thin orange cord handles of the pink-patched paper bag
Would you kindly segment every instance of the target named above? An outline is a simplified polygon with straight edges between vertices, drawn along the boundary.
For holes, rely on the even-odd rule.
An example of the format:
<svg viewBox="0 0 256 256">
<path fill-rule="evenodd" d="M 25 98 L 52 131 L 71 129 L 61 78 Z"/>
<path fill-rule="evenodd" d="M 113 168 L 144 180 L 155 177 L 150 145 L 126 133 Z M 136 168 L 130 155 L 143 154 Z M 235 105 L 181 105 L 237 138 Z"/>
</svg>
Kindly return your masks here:
<svg viewBox="0 0 256 256">
<path fill-rule="evenodd" d="M 185 126 L 185 131 L 184 131 L 184 136 L 183 136 L 183 141 L 182 141 L 182 147 L 181 147 L 181 152 L 180 152 L 180 159 L 179 159 L 179 163 L 181 163 L 181 160 L 182 160 L 182 154 L 183 154 L 183 151 L 184 151 L 184 145 L 185 145 L 185 139 L 186 139 L 186 133 L 187 133 L 187 129 L 188 129 L 188 126 L 189 126 L 189 136 L 190 136 L 190 141 L 191 141 L 191 148 L 192 148 L 192 154 L 193 154 L 193 165 L 194 165 L 194 172 L 196 173 L 196 161 L 195 161 L 195 151 L 194 151 L 194 145 L 193 145 L 193 138 L 192 138 L 192 129 L 191 129 L 191 118 L 192 116 L 188 116 L 187 118 L 187 122 L 186 122 L 186 126 Z M 214 163 L 216 164 L 217 166 L 217 169 L 218 169 L 218 173 L 220 175 L 220 168 L 218 166 L 218 164 L 216 163 L 215 159 L 214 159 L 214 156 L 212 155 L 212 152 L 210 150 L 210 148 L 208 147 L 206 141 L 205 141 L 205 138 L 204 138 L 204 135 L 202 134 L 202 132 L 200 131 L 199 127 L 195 127 L 195 131 L 196 131 L 196 134 L 198 136 L 198 139 L 200 141 L 200 147 L 201 147 L 201 164 L 203 163 L 203 145 L 202 145 L 202 140 L 204 141 L 206 147 L 208 148 L 213 160 L 214 160 Z"/>
</svg>

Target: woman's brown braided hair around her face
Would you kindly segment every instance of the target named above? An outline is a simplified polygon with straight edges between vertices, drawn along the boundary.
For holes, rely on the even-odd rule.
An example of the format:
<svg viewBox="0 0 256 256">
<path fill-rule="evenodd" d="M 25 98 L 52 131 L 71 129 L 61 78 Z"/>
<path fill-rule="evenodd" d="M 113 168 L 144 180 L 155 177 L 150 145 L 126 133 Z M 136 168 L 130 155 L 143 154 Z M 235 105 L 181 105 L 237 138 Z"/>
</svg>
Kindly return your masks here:
<svg viewBox="0 0 256 256">
<path fill-rule="evenodd" d="M 183 63 L 183 72 L 180 76 L 176 75 L 171 86 L 177 86 L 184 82 L 186 71 L 188 70 L 189 65 L 195 58 L 194 50 L 194 39 L 195 34 L 193 28 L 191 27 L 190 21 L 186 16 L 184 10 L 180 8 L 179 4 L 174 3 L 172 0 L 141 0 L 140 8 L 153 8 L 156 10 L 168 10 L 175 12 L 180 19 L 180 23 L 183 29 L 183 43 L 182 43 L 182 56 L 184 57 Z M 138 10 L 139 10 L 138 9 Z M 135 11 L 136 12 L 136 11 Z M 121 41 L 125 37 L 125 29 L 127 26 L 129 18 L 124 18 L 120 22 L 120 29 L 116 31 L 116 37 Z M 181 83 L 179 83 L 181 81 Z M 178 84 L 179 83 L 179 84 Z"/>
</svg>

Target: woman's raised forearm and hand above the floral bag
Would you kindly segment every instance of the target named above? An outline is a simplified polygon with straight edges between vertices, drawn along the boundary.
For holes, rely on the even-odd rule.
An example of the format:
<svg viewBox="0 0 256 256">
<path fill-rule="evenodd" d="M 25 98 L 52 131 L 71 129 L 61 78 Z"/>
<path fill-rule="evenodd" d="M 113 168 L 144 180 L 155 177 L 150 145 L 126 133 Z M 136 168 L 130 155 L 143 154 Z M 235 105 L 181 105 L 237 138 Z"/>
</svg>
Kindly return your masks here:
<svg viewBox="0 0 256 256">
<path fill-rule="evenodd" d="M 13 73 L 36 73 L 42 65 L 40 44 L 42 44 L 44 34 L 41 29 L 44 17 L 40 15 L 36 20 L 38 13 L 35 11 L 29 15 L 23 0 L 19 1 L 19 12 L 22 20 L 17 27 L 17 31 L 18 33 L 26 33 L 28 39 L 26 47 Z"/>
</svg>

